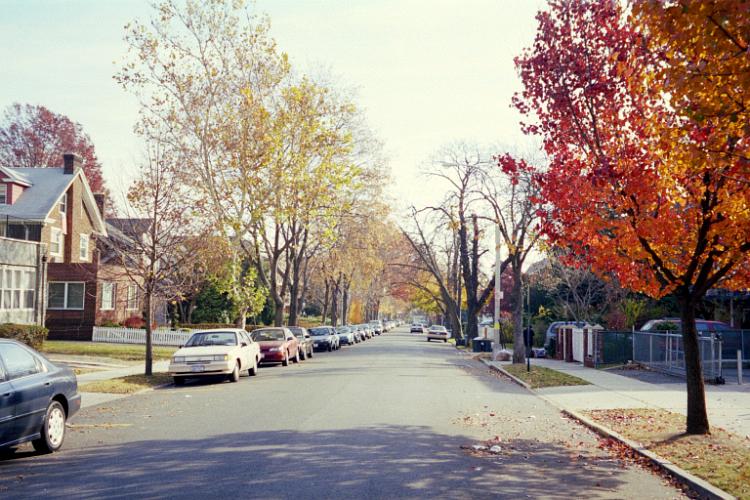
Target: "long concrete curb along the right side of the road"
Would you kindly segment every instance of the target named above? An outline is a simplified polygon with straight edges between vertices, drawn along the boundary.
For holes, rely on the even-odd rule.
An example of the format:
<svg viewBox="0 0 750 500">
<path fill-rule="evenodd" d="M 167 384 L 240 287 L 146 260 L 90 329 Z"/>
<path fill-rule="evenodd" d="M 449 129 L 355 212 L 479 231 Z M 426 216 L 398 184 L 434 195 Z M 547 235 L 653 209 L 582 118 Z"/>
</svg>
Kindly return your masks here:
<svg viewBox="0 0 750 500">
<path fill-rule="evenodd" d="M 529 384 L 527 384 L 523 380 L 519 379 L 518 377 L 515 377 L 515 376 L 511 375 L 506 370 L 503 370 L 501 367 L 498 367 L 498 366 L 495 366 L 495 365 L 491 364 L 490 361 L 487 361 L 487 360 L 484 360 L 484 359 L 481 360 L 481 361 L 486 366 L 488 366 L 490 369 L 495 370 L 495 371 L 497 371 L 499 373 L 502 373 L 506 377 L 508 377 L 511 380 L 513 380 L 513 382 L 515 382 L 516 384 L 520 385 L 521 387 L 523 387 L 526 390 L 528 390 L 529 392 L 533 393 L 534 395 L 536 395 L 540 399 L 543 399 L 547 403 L 551 404 L 552 406 L 554 406 L 555 408 L 557 408 L 558 410 L 560 410 L 563 414 L 568 415 L 569 417 L 576 419 L 578 422 L 580 422 L 581 424 L 585 425 L 589 429 L 593 430 L 594 432 L 596 432 L 600 436 L 612 438 L 612 439 L 615 439 L 618 442 L 624 444 L 625 446 L 627 446 L 631 450 L 635 451 L 636 453 L 638 453 L 642 457 L 644 457 L 644 458 L 648 459 L 649 461 L 651 461 L 651 463 L 653 463 L 654 465 L 658 466 L 659 468 L 661 468 L 662 470 L 664 470 L 665 472 L 667 472 L 669 475 L 671 475 L 672 477 L 674 477 L 677 481 L 681 482 L 682 484 L 687 485 L 688 487 L 690 487 L 692 490 L 694 490 L 695 492 L 699 493 L 700 495 L 702 495 L 702 496 L 704 496 L 706 498 L 710 498 L 712 500 L 714 500 L 714 499 L 732 500 L 732 499 L 736 498 L 736 497 L 730 495 L 729 493 L 727 493 L 726 491 L 724 491 L 724 490 L 722 490 L 720 488 L 717 488 L 716 486 L 712 485 L 708 481 L 705 481 L 705 480 L 703 480 L 703 479 L 701 479 L 701 478 L 699 478 L 699 477 L 697 477 L 697 476 L 689 473 L 688 471 L 686 471 L 686 470 L 678 467 L 677 465 L 673 464 L 669 460 L 661 458 L 660 456 L 656 455 L 655 453 L 647 450 L 646 448 L 643 447 L 642 444 L 637 443 L 635 441 L 631 441 L 628 438 L 626 438 L 624 436 L 621 436 L 617 432 L 615 432 L 615 431 L 613 431 L 611 429 L 608 429 L 607 427 L 604 427 L 601 424 L 598 424 L 598 423 L 594 422 L 593 420 L 589 419 L 588 417 L 586 417 L 586 416 L 584 416 L 584 415 L 582 415 L 582 414 L 580 414 L 580 413 L 578 413 L 576 411 L 569 410 L 567 408 L 564 408 L 564 407 L 558 405 L 554 401 L 552 401 L 552 400 L 544 397 L 544 395 L 539 394 L 538 392 L 536 392 L 534 389 L 531 388 L 531 386 L 529 386 Z"/>
</svg>

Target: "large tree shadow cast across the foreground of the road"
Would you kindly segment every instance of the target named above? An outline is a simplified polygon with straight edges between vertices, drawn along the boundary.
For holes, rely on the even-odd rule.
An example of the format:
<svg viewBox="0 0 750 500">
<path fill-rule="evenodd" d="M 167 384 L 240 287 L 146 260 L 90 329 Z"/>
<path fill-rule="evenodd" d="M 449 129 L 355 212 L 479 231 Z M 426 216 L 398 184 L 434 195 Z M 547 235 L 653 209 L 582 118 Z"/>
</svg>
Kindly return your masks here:
<svg viewBox="0 0 750 500">
<path fill-rule="evenodd" d="M 461 449 L 465 438 L 421 426 L 220 434 L 217 418 L 216 427 L 207 439 L 21 452 L 0 461 L 0 497 L 573 498 L 622 486 L 615 463 L 584 464 L 550 443 L 477 457 Z"/>
</svg>

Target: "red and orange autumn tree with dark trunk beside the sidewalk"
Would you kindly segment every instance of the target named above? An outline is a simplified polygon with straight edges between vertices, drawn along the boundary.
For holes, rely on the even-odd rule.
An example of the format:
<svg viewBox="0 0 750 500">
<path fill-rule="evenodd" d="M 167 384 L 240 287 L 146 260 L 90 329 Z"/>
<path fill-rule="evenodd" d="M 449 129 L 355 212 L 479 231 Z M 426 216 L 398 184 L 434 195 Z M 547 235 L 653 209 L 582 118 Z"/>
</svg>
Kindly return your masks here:
<svg viewBox="0 0 750 500">
<path fill-rule="evenodd" d="M 693 7 L 670 15 L 680 19 Z M 703 102 L 713 89 L 726 93 L 711 84 L 714 63 L 733 58 L 742 74 L 750 63 L 719 43 L 744 32 L 739 15 L 718 12 L 724 22 L 717 25 L 709 8 L 691 18 L 693 38 L 705 44 L 695 51 L 702 60 L 687 64 L 681 39 L 652 38 L 663 15 L 647 14 L 629 17 L 617 0 L 550 0 L 537 16 L 534 45 L 516 60 L 524 90 L 514 103 L 550 159 L 541 177 L 546 234 L 600 276 L 679 299 L 687 432 L 703 434 L 709 423 L 696 308 L 711 287 L 750 283 L 748 143 L 728 125 L 747 122 L 728 117 L 706 130 Z M 675 87 L 693 67 L 700 72 L 684 77 L 691 85 Z M 737 93 L 741 109 L 750 104 L 746 94 Z"/>
</svg>

